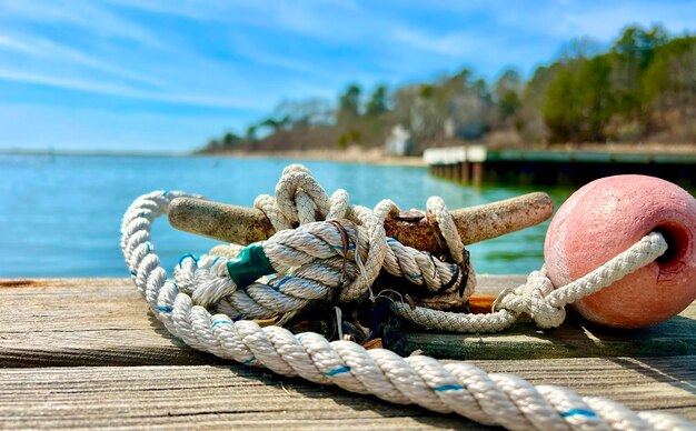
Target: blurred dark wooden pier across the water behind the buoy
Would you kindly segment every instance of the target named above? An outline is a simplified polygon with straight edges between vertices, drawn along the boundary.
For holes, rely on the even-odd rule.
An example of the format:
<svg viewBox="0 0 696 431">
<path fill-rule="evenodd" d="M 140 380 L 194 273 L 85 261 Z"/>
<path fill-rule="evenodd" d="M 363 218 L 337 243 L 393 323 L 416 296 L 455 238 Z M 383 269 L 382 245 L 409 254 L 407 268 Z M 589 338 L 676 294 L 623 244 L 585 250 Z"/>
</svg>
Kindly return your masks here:
<svg viewBox="0 0 696 431">
<path fill-rule="evenodd" d="M 431 174 L 473 186 L 581 186 L 603 177 L 639 173 L 696 187 L 696 152 L 521 151 L 468 146 L 431 148 L 424 159 Z"/>
</svg>

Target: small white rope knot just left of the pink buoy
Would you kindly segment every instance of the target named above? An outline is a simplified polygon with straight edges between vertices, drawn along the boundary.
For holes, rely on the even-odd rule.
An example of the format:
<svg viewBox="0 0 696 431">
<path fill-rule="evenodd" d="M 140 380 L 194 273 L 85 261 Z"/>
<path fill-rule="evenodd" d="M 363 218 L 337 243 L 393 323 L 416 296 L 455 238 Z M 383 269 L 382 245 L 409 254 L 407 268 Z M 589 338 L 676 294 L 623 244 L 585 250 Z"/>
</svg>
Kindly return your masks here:
<svg viewBox="0 0 696 431">
<path fill-rule="evenodd" d="M 554 284 L 549 280 L 546 269 L 533 271 L 527 282 L 518 288 L 505 289 L 493 303 L 493 310 L 505 309 L 516 313 L 527 313 L 539 328 L 559 327 L 566 319 L 566 309 L 549 303 L 549 294 Z"/>
</svg>

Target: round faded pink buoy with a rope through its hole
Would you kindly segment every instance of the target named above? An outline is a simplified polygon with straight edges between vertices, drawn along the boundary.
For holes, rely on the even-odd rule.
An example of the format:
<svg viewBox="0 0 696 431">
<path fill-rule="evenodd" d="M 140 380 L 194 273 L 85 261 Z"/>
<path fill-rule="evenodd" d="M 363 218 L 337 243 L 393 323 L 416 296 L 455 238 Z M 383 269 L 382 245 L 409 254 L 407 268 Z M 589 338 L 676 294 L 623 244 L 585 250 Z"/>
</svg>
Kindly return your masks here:
<svg viewBox="0 0 696 431">
<path fill-rule="evenodd" d="M 696 299 L 696 199 L 672 182 L 616 176 L 576 191 L 548 228 L 549 278 L 555 287 L 568 284 L 652 231 L 667 241 L 665 254 L 573 307 L 585 319 L 614 328 L 669 319 Z"/>
</svg>

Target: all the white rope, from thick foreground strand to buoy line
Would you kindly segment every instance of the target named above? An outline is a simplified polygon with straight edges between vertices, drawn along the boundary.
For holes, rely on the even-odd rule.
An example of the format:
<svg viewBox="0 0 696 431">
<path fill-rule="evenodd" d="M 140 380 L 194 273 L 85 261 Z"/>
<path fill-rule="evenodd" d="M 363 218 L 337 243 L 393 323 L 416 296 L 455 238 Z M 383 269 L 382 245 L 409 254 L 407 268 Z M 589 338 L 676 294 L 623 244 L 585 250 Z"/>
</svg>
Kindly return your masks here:
<svg viewBox="0 0 696 431">
<path fill-rule="evenodd" d="M 371 294 L 370 287 L 382 269 L 436 293 L 420 299 L 421 305 L 430 301 L 447 309 L 453 302 L 466 301 L 474 289 L 474 272 L 439 198 L 431 198 L 428 209 L 438 218 L 454 263 L 387 239 L 382 222 L 396 211 L 392 202 L 382 201 L 372 211 L 349 206 L 345 191 L 328 198 L 305 168 L 290 167 L 278 184 L 276 199 L 259 197 L 255 203 L 278 233 L 247 248 L 226 245 L 200 258 L 187 254 L 171 280 L 160 265 L 149 232 L 170 202 L 185 196 L 191 197 L 152 192 L 138 198 L 123 217 L 121 249 L 155 315 L 195 349 L 279 374 L 301 375 L 396 403 L 457 412 L 514 430 L 690 428 L 670 414 L 634 412 L 614 401 L 579 397 L 565 388 L 534 387 L 515 375 L 487 374 L 468 363 L 443 364 L 422 355 L 401 358 L 385 349 L 368 351 L 350 341 L 329 342 L 312 332 L 294 334 L 280 327 L 261 328 L 242 320 L 292 313 L 317 299 L 362 299 Z M 329 221 L 315 222 L 317 217 Z M 296 222 L 300 227 L 290 230 Z M 558 290 L 553 290 L 544 270 L 537 271 L 527 284 L 504 291 L 496 301 L 498 311 L 489 318 L 426 307 L 411 309 L 399 302 L 394 307 L 420 325 L 447 331 L 500 330 L 523 312 L 540 325 L 557 325 L 563 321 L 558 310 L 564 304 L 647 264 L 665 249 L 662 235 L 652 233 L 597 271 L 561 288 L 560 293 L 555 293 Z M 266 273 L 281 275 L 243 285 L 256 277 L 236 271 L 241 261 L 256 262 Z M 212 315 L 203 305 L 222 313 Z"/>
</svg>

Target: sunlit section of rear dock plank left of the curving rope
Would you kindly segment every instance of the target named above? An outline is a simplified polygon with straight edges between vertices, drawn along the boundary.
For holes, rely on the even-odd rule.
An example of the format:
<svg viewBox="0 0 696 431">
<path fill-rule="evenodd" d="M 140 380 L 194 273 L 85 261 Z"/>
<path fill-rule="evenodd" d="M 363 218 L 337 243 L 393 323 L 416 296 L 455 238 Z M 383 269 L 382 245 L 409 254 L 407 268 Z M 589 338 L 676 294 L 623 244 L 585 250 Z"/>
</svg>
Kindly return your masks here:
<svg viewBox="0 0 696 431">
<path fill-rule="evenodd" d="M 0 367 L 216 363 L 175 339 L 128 279 L 0 282 Z"/>
</svg>

